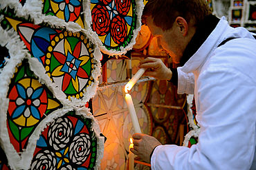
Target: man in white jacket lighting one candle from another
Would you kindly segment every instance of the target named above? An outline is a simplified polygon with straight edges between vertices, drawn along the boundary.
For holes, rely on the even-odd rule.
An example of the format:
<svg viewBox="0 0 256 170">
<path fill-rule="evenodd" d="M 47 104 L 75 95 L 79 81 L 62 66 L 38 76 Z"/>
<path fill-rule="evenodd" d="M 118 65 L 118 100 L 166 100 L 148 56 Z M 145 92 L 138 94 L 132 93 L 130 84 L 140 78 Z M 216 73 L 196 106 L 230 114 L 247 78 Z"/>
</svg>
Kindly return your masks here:
<svg viewBox="0 0 256 170">
<path fill-rule="evenodd" d="M 152 169 L 256 169 L 256 41 L 244 28 L 214 17 L 205 0 L 152 0 L 143 22 L 172 61 L 147 58 L 146 74 L 178 84 L 179 94 L 194 94 L 199 142 L 191 148 L 161 145 L 134 134 L 133 153 Z"/>
</svg>

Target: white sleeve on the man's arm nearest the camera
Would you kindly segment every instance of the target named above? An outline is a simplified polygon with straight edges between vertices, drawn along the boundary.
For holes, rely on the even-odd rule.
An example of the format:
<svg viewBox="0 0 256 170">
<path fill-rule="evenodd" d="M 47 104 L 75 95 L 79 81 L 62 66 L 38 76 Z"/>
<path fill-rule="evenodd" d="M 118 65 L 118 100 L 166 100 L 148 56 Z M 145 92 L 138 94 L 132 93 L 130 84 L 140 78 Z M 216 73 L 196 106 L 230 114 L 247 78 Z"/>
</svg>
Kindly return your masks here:
<svg viewBox="0 0 256 170">
<path fill-rule="evenodd" d="M 156 147 L 152 169 L 250 169 L 255 153 L 255 82 L 235 69 L 212 67 L 199 76 L 197 92 L 199 142 L 191 148 Z"/>
</svg>

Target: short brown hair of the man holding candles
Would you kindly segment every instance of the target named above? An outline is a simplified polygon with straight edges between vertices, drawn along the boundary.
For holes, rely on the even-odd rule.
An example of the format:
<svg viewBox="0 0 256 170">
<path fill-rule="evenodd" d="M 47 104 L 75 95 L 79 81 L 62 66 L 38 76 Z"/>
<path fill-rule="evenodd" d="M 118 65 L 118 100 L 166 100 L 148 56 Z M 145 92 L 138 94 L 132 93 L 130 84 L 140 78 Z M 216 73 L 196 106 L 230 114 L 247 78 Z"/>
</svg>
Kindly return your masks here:
<svg viewBox="0 0 256 170">
<path fill-rule="evenodd" d="M 168 30 L 176 17 L 183 17 L 187 22 L 194 17 L 198 25 L 211 13 L 205 0 L 149 0 L 143 10 L 143 23 L 152 16 L 156 26 Z"/>
</svg>

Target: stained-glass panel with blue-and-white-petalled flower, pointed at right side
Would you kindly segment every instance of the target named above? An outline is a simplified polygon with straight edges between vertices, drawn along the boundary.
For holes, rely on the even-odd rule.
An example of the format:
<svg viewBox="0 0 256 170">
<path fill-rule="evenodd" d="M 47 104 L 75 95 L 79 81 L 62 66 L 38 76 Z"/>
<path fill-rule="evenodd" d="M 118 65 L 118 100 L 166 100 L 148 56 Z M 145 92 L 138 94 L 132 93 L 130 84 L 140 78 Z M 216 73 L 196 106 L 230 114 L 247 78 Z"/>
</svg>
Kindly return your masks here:
<svg viewBox="0 0 256 170">
<path fill-rule="evenodd" d="M 62 107 L 46 85 L 29 69 L 27 61 L 16 68 L 9 85 L 7 127 L 17 152 L 26 149 L 28 138 L 48 114 Z"/>
</svg>

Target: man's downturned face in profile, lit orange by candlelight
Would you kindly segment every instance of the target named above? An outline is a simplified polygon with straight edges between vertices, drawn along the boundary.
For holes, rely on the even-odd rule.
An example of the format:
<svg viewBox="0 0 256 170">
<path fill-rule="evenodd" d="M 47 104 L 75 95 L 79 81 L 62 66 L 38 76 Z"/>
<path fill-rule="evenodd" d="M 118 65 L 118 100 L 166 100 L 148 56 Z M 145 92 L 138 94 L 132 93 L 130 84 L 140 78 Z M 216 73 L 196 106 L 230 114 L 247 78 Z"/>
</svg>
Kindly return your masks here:
<svg viewBox="0 0 256 170">
<path fill-rule="evenodd" d="M 179 48 L 179 37 L 177 36 L 174 27 L 163 31 L 154 24 L 152 17 L 147 17 L 146 22 L 152 35 L 160 40 L 165 52 L 172 57 L 172 61 L 174 63 L 179 63 L 182 53 Z"/>
</svg>

